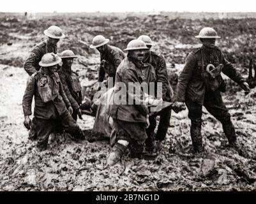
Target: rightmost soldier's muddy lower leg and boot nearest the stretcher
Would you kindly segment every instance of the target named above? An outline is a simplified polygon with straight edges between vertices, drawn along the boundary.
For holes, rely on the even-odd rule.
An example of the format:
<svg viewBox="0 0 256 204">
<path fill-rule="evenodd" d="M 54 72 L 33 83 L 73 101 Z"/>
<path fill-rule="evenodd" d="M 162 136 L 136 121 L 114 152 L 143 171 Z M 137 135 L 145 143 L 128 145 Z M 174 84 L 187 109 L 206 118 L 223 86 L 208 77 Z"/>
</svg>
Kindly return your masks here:
<svg viewBox="0 0 256 204">
<path fill-rule="evenodd" d="M 192 138 L 193 150 L 196 153 L 203 152 L 201 122 L 192 122 L 190 135 Z"/>
</svg>

